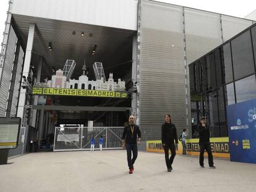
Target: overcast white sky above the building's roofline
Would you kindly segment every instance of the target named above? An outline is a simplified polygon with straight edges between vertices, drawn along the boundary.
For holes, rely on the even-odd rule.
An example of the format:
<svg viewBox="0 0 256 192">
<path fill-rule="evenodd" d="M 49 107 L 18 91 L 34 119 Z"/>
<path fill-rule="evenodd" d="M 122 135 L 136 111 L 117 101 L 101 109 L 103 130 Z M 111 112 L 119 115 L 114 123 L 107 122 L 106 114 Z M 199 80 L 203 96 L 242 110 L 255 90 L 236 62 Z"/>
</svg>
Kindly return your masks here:
<svg viewBox="0 0 256 192">
<path fill-rule="evenodd" d="M 9 0 L 0 0 L 0 43 L 2 43 L 2 32 L 4 31 L 4 22 L 6 21 L 6 12 L 8 10 Z M 54 0 L 52 0 L 54 1 Z M 93 1 L 93 0 L 86 0 Z M 106 0 L 108 1 L 108 0 Z M 122 1 L 122 0 L 120 0 Z M 232 15 L 235 17 L 244 18 L 250 12 L 256 9 L 255 0 L 159 0 L 161 2 L 168 2 L 179 6 L 192 7 L 195 9 L 208 10 L 220 14 Z"/>
</svg>

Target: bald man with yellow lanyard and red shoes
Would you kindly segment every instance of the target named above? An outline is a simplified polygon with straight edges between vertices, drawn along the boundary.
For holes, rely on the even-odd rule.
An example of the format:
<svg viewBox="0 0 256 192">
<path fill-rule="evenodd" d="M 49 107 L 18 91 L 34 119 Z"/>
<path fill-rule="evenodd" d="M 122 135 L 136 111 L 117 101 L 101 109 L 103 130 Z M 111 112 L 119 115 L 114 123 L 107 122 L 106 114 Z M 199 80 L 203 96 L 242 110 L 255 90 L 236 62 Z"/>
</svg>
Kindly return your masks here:
<svg viewBox="0 0 256 192">
<path fill-rule="evenodd" d="M 134 120 L 134 116 L 130 115 L 129 125 L 124 127 L 124 132 L 122 133 L 122 148 L 126 148 L 127 151 L 129 173 L 134 172 L 134 162 L 138 156 L 137 136 L 139 137 L 139 144 L 141 141 L 140 128 L 134 124 Z"/>
</svg>

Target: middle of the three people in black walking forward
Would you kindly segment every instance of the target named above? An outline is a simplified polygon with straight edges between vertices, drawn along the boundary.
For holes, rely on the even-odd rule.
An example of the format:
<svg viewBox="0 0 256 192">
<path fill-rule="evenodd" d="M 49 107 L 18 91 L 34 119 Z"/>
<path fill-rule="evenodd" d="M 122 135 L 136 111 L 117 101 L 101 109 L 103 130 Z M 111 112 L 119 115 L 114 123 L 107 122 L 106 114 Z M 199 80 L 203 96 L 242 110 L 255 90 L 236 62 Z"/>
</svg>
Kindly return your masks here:
<svg viewBox="0 0 256 192">
<path fill-rule="evenodd" d="M 173 159 L 176 156 L 176 147 L 174 144 L 178 144 L 177 140 L 177 130 L 173 123 L 171 123 L 171 115 L 166 114 L 164 115 L 165 122 L 162 125 L 162 144 L 164 148 L 164 154 L 165 154 L 165 162 L 167 166 L 168 172 L 171 172 L 173 170 L 172 164 Z M 169 158 L 169 149 L 171 150 L 171 157 Z"/>
</svg>

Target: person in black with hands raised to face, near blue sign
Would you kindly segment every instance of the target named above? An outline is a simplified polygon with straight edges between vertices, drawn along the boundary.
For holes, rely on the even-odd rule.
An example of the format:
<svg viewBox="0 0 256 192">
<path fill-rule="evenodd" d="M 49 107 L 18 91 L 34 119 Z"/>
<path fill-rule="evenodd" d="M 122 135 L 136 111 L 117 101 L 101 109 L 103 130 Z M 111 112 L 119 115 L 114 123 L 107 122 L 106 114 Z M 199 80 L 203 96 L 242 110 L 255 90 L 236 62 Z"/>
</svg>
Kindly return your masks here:
<svg viewBox="0 0 256 192">
<path fill-rule="evenodd" d="M 203 154 L 205 150 L 208 153 L 208 163 L 209 167 L 215 169 L 215 165 L 213 165 L 213 154 L 211 153 L 211 144 L 210 144 L 210 128 L 207 125 L 205 117 L 201 117 L 201 122 L 198 125 L 198 133 L 199 133 L 199 146 L 200 146 L 200 158 L 199 164 L 202 168 L 205 168 L 203 164 Z"/>
</svg>

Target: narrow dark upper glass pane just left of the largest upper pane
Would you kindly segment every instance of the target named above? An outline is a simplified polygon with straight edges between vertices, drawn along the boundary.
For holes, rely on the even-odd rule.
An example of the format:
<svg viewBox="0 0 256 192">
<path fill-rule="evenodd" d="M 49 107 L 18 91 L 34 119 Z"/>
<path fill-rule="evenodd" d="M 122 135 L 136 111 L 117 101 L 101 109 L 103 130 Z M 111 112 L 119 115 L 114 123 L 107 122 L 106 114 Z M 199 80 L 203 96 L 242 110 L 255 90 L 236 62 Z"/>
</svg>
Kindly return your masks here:
<svg viewBox="0 0 256 192">
<path fill-rule="evenodd" d="M 231 49 L 230 43 L 224 44 L 223 46 L 223 67 L 224 67 L 224 84 L 231 83 L 233 81 L 233 69 L 232 69 L 232 60 L 231 60 Z"/>
</svg>

